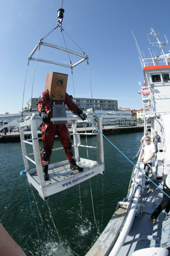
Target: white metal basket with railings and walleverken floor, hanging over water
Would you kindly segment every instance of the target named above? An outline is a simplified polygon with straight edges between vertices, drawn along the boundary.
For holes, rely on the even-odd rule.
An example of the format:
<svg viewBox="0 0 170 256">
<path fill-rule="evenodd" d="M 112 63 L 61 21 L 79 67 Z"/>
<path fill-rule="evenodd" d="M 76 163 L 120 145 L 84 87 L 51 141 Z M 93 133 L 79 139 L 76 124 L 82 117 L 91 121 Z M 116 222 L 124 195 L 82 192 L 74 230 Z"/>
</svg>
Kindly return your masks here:
<svg viewBox="0 0 170 256">
<path fill-rule="evenodd" d="M 88 117 L 92 121 L 97 122 L 97 126 L 99 131 L 102 132 L 102 119 L 101 117 Z M 44 181 L 43 177 L 43 171 L 42 171 L 42 164 L 41 164 L 41 157 L 39 150 L 39 139 L 38 133 L 37 133 L 37 120 L 39 118 L 36 117 L 36 114 L 33 114 L 29 120 L 25 122 L 20 123 L 20 140 L 21 140 L 21 148 L 22 148 L 22 155 L 23 155 L 23 161 L 25 163 L 25 168 L 27 171 L 27 179 L 29 183 L 31 183 L 38 191 L 39 195 L 42 197 L 42 199 L 47 199 L 48 196 L 51 196 L 53 194 L 58 193 L 59 191 L 65 190 L 69 187 L 72 187 L 74 185 L 77 185 L 87 179 L 92 178 L 95 175 L 98 175 L 99 173 L 104 173 L 104 151 L 103 151 L 103 136 L 100 132 L 95 133 L 93 135 L 98 136 L 98 146 L 87 146 L 87 145 L 81 145 L 80 136 L 81 135 L 89 135 L 90 133 L 81 133 L 79 134 L 77 132 L 77 121 L 80 119 L 78 117 L 70 117 L 70 118 L 52 118 L 51 121 L 61 121 L 61 120 L 67 120 L 69 122 L 72 122 L 72 135 L 74 138 L 74 148 L 75 148 L 75 158 L 78 162 L 78 164 L 81 164 L 83 166 L 84 171 L 81 173 L 76 173 L 75 175 L 70 175 L 71 170 L 69 169 L 69 163 L 68 160 L 57 162 L 54 164 L 50 164 L 48 166 L 48 173 L 55 168 L 56 173 L 58 172 L 57 169 L 62 169 L 60 173 L 64 173 L 63 177 L 59 177 L 60 181 L 57 180 L 57 176 L 53 179 L 53 173 L 51 174 L 51 177 L 53 181 Z M 23 127 L 25 126 L 31 126 L 31 136 L 32 139 L 25 140 Z M 90 134 L 92 135 L 92 134 Z M 33 153 L 27 154 L 26 144 L 30 144 L 33 147 Z M 88 147 L 90 148 L 96 148 L 96 158 L 99 159 L 98 161 L 93 161 L 90 159 L 85 159 L 80 157 L 79 148 Z M 54 150 L 62 150 L 63 148 L 57 148 Z M 34 156 L 34 160 L 30 158 L 30 156 Z M 29 162 L 32 162 L 35 164 L 35 168 L 30 169 Z M 68 170 L 68 171 L 67 171 Z M 62 174 L 61 174 L 62 176 Z M 67 184 L 67 185 L 65 185 Z"/>
</svg>

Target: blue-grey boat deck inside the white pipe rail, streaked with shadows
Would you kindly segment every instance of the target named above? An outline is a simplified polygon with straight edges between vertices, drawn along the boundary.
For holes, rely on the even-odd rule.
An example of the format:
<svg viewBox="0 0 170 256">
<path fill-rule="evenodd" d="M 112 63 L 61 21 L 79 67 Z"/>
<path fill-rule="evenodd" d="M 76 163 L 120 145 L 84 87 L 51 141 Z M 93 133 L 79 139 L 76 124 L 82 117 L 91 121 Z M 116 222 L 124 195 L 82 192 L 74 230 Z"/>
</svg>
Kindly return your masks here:
<svg viewBox="0 0 170 256">
<path fill-rule="evenodd" d="M 163 182 L 161 180 L 154 180 L 154 182 L 162 188 Z M 155 188 L 153 183 L 152 188 Z M 146 189 L 144 193 L 147 193 Z M 162 192 L 156 187 L 143 204 L 143 216 L 135 216 L 124 246 L 117 254 L 118 256 L 131 255 L 134 251 L 143 248 L 161 247 L 163 243 L 168 241 L 169 219 L 164 221 L 165 214 L 160 214 L 156 225 L 152 225 L 150 222 L 152 212 L 161 201 Z"/>
</svg>

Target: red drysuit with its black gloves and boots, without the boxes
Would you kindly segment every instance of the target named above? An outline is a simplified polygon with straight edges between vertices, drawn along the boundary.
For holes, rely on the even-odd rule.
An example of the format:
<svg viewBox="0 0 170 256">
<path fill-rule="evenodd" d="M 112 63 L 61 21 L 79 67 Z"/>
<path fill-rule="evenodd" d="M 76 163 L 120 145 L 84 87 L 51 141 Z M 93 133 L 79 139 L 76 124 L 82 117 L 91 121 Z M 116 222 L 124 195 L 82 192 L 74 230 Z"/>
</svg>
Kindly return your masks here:
<svg viewBox="0 0 170 256">
<path fill-rule="evenodd" d="M 72 151 L 72 143 L 68 128 L 65 123 L 53 124 L 51 118 L 53 117 L 53 104 L 54 100 L 50 100 L 48 90 L 40 94 L 37 101 L 37 109 L 39 115 L 42 117 L 43 124 L 41 126 L 42 141 L 43 141 L 43 153 L 42 153 L 42 166 L 44 172 L 44 180 L 49 180 L 48 176 L 48 164 L 50 163 L 50 157 L 52 155 L 52 149 L 54 144 L 55 135 L 57 134 L 63 148 L 65 155 L 70 163 L 71 169 L 77 169 L 80 172 L 83 168 L 76 164 L 74 154 Z M 55 100 L 55 104 L 62 104 L 62 100 Z M 67 104 L 68 108 L 76 115 L 80 116 L 82 120 L 86 119 L 86 114 L 72 101 L 72 98 L 66 93 L 64 105 Z"/>
</svg>

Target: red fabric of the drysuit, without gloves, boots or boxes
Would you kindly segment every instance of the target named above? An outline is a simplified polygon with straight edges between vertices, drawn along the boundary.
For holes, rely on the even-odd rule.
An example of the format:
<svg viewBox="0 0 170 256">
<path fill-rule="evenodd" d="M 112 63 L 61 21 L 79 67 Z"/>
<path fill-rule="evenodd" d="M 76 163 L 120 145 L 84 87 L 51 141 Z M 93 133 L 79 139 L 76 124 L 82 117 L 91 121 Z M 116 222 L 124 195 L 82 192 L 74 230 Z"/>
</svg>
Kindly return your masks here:
<svg viewBox="0 0 170 256">
<path fill-rule="evenodd" d="M 38 98 L 37 101 L 37 109 L 40 113 L 42 109 L 45 110 L 46 114 L 50 116 L 50 118 L 53 117 L 53 100 L 50 100 L 50 96 L 48 93 L 48 90 L 41 93 L 41 95 Z M 62 101 L 55 100 L 55 104 L 62 104 Z M 77 110 L 82 112 L 78 106 L 72 101 L 72 98 L 66 93 L 64 105 L 67 104 L 68 108 L 74 112 L 77 113 Z M 42 132 L 42 141 L 43 141 L 43 153 L 42 153 L 42 165 L 46 166 L 50 163 L 50 157 L 52 155 L 52 149 L 54 144 L 55 135 L 57 133 L 57 136 L 64 148 L 65 155 L 68 159 L 68 161 L 74 160 L 74 154 L 72 151 L 72 143 L 70 140 L 69 131 L 67 129 L 67 126 L 65 123 L 63 124 L 53 124 L 53 122 L 50 123 L 43 123 L 41 127 Z"/>
</svg>

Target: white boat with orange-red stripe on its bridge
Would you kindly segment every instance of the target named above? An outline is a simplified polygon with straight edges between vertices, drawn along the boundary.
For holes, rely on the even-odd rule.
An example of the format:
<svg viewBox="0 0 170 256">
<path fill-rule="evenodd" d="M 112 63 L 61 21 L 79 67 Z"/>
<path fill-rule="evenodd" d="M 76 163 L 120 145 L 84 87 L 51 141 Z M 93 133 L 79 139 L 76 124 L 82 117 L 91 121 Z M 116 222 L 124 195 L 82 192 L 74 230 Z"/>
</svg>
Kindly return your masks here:
<svg viewBox="0 0 170 256">
<path fill-rule="evenodd" d="M 158 47 L 160 52 L 159 56 L 151 54 L 150 58 L 143 58 L 140 54 L 144 73 L 144 84 L 139 82 L 144 110 L 144 132 L 149 132 L 152 138 L 157 131 L 161 137 L 161 142 L 157 144 L 158 152 L 154 156 L 153 172 L 149 175 L 151 185 L 145 185 L 144 164 L 137 162 L 127 197 L 117 203 L 110 222 L 86 256 L 163 256 L 169 253 L 169 216 L 161 212 L 154 226 L 150 223 L 150 217 L 162 201 L 163 181 L 170 170 L 170 54 L 165 54 L 163 50 L 163 45 L 167 45 L 166 38 L 164 42 L 159 41 L 159 34 L 153 28 L 148 36 L 154 37 L 154 42 L 150 44 Z M 151 127 L 147 130 L 148 121 L 151 122 Z M 138 159 L 142 154 L 143 147 Z"/>
</svg>

